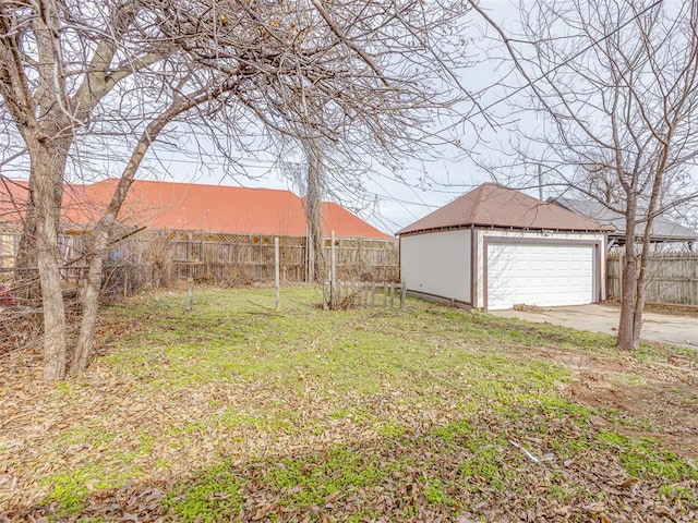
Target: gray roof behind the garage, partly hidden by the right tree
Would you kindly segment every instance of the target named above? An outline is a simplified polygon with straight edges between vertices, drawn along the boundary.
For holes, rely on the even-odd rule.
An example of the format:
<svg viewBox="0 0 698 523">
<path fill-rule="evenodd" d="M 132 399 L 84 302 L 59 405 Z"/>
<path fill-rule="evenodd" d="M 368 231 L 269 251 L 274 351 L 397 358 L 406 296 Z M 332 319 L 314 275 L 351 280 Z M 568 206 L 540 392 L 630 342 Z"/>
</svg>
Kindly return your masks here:
<svg viewBox="0 0 698 523">
<path fill-rule="evenodd" d="M 619 212 L 614 212 L 603 204 L 593 200 L 568 198 L 551 198 L 551 203 L 613 228 L 613 231 L 609 232 L 610 239 L 625 240 L 625 217 Z M 638 223 L 635 232 L 636 234 L 642 234 L 645 232 L 645 223 Z M 686 242 L 698 240 L 698 232 L 691 231 L 669 218 L 658 216 L 652 223 L 651 240 L 652 242 Z"/>
</svg>

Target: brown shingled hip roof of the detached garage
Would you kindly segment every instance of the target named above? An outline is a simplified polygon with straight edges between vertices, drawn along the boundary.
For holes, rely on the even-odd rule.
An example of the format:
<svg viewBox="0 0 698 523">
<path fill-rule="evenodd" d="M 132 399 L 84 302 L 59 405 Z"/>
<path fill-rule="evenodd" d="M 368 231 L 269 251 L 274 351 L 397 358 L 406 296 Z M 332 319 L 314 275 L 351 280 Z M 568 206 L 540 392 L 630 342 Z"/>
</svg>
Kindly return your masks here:
<svg viewBox="0 0 698 523">
<path fill-rule="evenodd" d="M 484 183 L 436 209 L 397 234 L 462 226 L 557 231 L 605 231 L 577 212 L 495 183 Z"/>
</svg>

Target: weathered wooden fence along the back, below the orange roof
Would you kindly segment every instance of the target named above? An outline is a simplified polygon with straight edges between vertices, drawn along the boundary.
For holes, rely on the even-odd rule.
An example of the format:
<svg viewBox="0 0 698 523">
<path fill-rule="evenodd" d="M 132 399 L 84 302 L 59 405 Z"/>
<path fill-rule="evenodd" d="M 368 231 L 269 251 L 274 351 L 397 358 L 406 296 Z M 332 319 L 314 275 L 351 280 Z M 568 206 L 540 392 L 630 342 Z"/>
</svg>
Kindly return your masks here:
<svg viewBox="0 0 698 523">
<path fill-rule="evenodd" d="M 306 239 L 279 239 L 281 281 L 306 280 Z M 224 234 L 192 231 L 146 230 L 130 235 L 111 247 L 106 265 L 132 285 L 166 287 L 192 277 L 197 282 L 248 284 L 274 281 L 274 235 Z M 329 267 L 330 240 L 325 240 L 325 273 Z M 1 263 L 11 275 L 19 233 L 2 236 Z M 79 273 L 85 251 L 84 234 L 59 236 L 61 265 Z M 335 240 L 336 277 L 345 280 L 398 281 L 398 242 L 394 239 L 341 238 Z M 1 268 L 0 268 L 1 269 Z M 118 270 L 117 270 L 118 269 Z"/>
</svg>

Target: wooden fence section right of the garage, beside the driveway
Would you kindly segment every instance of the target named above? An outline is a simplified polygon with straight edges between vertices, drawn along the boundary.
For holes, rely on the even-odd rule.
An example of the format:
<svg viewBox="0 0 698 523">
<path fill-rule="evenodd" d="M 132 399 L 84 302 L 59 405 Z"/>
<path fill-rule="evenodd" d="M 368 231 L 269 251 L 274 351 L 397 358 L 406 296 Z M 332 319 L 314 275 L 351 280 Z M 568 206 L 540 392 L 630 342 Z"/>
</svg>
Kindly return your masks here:
<svg viewBox="0 0 698 523">
<path fill-rule="evenodd" d="M 621 297 L 623 255 L 607 259 L 607 294 Z M 647 273 L 647 302 L 698 306 L 698 253 L 657 253 L 650 255 Z"/>
</svg>

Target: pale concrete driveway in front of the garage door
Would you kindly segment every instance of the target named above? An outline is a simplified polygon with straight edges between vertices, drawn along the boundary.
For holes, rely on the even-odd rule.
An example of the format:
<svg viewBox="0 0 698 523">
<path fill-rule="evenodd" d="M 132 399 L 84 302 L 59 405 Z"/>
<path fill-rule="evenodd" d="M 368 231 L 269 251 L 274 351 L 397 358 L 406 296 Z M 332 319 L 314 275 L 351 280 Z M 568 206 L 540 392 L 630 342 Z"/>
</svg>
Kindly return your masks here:
<svg viewBox="0 0 698 523">
<path fill-rule="evenodd" d="M 490 314 L 506 318 L 520 318 L 535 324 L 549 323 L 573 329 L 615 335 L 618 327 L 619 307 L 607 305 L 574 305 L 543 307 L 541 312 L 492 311 Z M 669 314 L 642 314 L 643 340 L 659 341 L 670 345 L 698 349 L 698 318 Z"/>
</svg>

